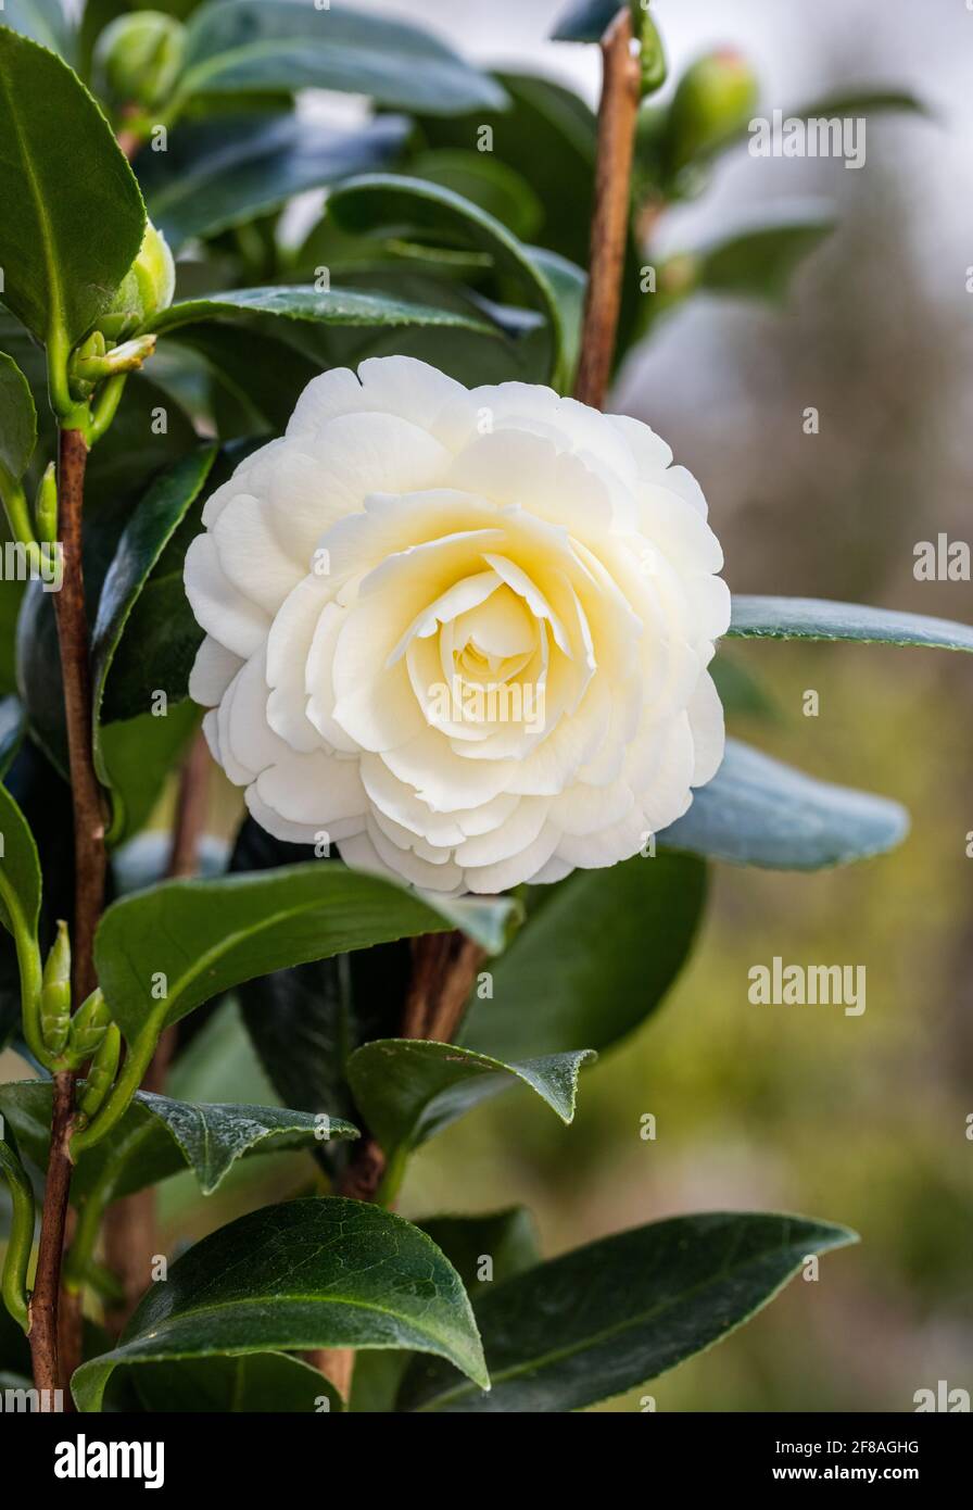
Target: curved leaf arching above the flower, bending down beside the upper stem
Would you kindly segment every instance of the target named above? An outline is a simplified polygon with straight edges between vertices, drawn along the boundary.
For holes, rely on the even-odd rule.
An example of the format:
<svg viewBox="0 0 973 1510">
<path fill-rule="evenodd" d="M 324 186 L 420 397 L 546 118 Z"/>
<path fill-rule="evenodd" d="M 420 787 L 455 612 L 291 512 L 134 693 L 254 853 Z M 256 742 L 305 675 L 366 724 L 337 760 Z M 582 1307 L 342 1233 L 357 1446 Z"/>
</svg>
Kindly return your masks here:
<svg viewBox="0 0 973 1510">
<path fill-rule="evenodd" d="M 339 184 L 327 201 L 339 230 L 409 240 L 440 237 L 447 246 L 486 252 L 498 276 L 510 278 L 525 302 L 551 328 L 551 371 L 564 374 L 566 329 L 561 304 L 542 258 L 531 255 L 505 225 L 469 199 L 418 178 L 367 174 Z"/>
</svg>

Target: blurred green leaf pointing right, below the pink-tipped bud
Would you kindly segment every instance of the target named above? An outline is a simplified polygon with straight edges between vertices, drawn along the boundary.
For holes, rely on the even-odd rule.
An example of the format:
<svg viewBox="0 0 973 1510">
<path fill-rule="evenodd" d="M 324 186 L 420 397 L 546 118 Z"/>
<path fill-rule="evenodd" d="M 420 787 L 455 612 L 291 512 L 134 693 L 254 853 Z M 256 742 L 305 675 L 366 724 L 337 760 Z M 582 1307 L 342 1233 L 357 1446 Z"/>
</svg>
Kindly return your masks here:
<svg viewBox="0 0 973 1510">
<path fill-rule="evenodd" d="M 831 207 L 784 208 L 777 223 L 741 231 L 697 252 L 698 287 L 780 304 L 800 264 L 836 223 Z"/>
</svg>

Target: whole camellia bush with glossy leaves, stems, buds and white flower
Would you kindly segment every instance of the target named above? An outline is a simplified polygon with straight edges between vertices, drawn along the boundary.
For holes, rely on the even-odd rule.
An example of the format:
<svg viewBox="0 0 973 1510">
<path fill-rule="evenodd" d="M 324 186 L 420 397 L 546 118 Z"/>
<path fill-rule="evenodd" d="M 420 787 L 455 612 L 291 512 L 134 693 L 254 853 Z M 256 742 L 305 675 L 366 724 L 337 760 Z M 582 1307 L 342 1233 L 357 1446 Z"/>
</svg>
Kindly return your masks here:
<svg viewBox="0 0 973 1510">
<path fill-rule="evenodd" d="M 570 1122 L 689 954 L 711 862 L 905 834 L 726 738 L 732 639 L 973 631 L 732 598 L 720 498 L 707 522 L 665 441 L 602 412 L 667 311 L 778 300 L 831 230 L 792 207 L 653 258 L 747 140 L 745 59 L 658 104 L 649 8 L 573 6 L 594 115 L 419 20 L 160 5 L 0 12 L 0 1046 L 30 1066 L 0 1086 L 0 1370 L 83 1412 L 585 1407 L 854 1241 L 840 1213 L 546 1259 L 522 1210 L 404 1220 L 409 1157 L 514 1086 Z M 336 128 L 314 88 L 371 104 Z M 922 104 L 793 113 L 886 110 Z M 299 1197 L 160 1250 L 161 1181 L 193 1172 L 205 1231 L 282 1149 Z"/>
</svg>

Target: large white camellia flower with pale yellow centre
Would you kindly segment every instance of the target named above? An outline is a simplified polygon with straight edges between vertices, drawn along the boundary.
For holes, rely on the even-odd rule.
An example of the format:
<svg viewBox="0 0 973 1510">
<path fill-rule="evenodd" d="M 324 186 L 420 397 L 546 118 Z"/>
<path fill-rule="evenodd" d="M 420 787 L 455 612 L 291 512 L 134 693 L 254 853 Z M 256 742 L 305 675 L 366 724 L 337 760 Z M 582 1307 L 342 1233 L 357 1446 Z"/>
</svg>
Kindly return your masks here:
<svg viewBox="0 0 973 1510">
<path fill-rule="evenodd" d="M 190 693 L 256 821 L 440 892 L 644 849 L 724 744 L 723 553 L 670 462 L 549 388 L 315 378 L 186 557 Z"/>
</svg>

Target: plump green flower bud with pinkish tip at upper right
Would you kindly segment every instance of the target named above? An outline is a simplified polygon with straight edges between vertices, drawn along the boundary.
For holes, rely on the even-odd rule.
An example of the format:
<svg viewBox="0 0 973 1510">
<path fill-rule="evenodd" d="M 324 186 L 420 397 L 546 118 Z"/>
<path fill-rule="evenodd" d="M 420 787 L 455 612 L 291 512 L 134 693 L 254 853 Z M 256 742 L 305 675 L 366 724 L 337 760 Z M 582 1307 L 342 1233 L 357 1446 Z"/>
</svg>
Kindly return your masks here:
<svg viewBox="0 0 973 1510">
<path fill-rule="evenodd" d="M 747 59 L 723 47 L 697 59 L 679 80 L 668 113 L 668 168 L 706 157 L 750 121 L 757 80 Z"/>
</svg>

